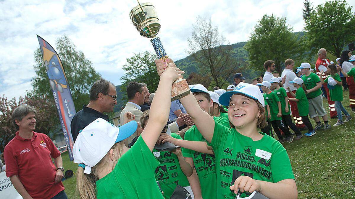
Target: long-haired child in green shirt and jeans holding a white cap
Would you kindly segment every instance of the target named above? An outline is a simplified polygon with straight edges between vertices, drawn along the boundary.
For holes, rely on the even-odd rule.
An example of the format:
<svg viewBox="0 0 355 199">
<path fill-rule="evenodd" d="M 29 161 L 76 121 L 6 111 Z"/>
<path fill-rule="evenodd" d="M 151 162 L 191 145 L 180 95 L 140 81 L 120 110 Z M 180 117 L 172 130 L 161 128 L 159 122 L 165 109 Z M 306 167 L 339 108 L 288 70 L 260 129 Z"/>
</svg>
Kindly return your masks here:
<svg viewBox="0 0 355 199">
<path fill-rule="evenodd" d="M 337 72 L 337 66 L 335 64 L 329 64 L 327 66 L 327 71 L 331 73 L 331 76 L 328 76 L 327 79 L 323 80 L 321 78 L 322 84 L 326 83 L 329 88 L 329 95 L 331 100 L 334 101 L 334 108 L 337 111 L 338 121 L 333 126 L 339 126 L 351 120 L 351 115 L 343 107 L 343 89 L 342 89 L 342 80 Z M 345 76 L 345 75 L 344 75 Z M 348 75 L 346 75 L 348 76 Z M 330 79 L 329 79 L 330 78 Z M 343 121 L 342 112 L 345 114 L 346 119 Z"/>
</svg>

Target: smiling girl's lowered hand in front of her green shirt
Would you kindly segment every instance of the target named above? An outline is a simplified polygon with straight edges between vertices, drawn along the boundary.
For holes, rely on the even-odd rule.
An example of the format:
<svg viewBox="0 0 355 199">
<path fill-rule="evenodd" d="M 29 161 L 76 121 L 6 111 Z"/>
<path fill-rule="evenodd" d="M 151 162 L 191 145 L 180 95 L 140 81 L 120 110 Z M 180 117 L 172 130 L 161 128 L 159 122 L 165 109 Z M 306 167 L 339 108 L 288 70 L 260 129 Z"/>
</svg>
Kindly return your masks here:
<svg viewBox="0 0 355 199">
<path fill-rule="evenodd" d="M 253 193 L 254 191 L 260 191 L 261 184 L 258 180 L 254 180 L 249 176 L 239 176 L 237 180 L 234 181 L 234 185 L 229 187 L 230 190 L 233 190 L 235 194 L 240 192 L 249 192 Z"/>
</svg>

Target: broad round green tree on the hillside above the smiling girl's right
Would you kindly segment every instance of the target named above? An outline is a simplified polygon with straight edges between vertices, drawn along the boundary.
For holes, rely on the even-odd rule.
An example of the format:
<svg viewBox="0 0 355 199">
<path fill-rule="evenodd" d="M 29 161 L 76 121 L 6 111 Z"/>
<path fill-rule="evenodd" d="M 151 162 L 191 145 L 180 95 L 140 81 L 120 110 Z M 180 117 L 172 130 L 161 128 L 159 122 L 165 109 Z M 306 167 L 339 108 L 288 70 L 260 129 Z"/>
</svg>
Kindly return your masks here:
<svg viewBox="0 0 355 199">
<path fill-rule="evenodd" d="M 250 65 L 256 70 L 264 70 L 264 62 L 271 59 L 275 61 L 277 71 L 281 73 L 281 65 L 286 59 L 302 57 L 303 39 L 299 39 L 299 35 L 292 31 L 293 28 L 286 24 L 285 17 L 264 15 L 255 25 L 245 45 Z"/>
</svg>

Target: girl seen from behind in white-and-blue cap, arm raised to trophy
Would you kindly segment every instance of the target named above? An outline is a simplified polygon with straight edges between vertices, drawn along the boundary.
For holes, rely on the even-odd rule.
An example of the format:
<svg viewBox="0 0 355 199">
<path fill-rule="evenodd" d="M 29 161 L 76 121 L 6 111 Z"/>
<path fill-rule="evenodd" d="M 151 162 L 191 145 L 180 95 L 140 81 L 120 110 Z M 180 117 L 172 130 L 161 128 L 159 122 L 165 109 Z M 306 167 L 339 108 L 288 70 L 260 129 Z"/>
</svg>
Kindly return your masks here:
<svg viewBox="0 0 355 199">
<path fill-rule="evenodd" d="M 183 78 L 181 74 L 184 72 L 171 67 L 160 76 L 150 109 L 152 121 L 132 148 L 122 141 L 136 131 L 136 121 L 116 127 L 99 118 L 79 133 L 73 156 L 80 164 L 76 172 L 80 198 L 164 198 L 155 181 L 159 162 L 152 150 L 168 121 L 172 84 Z M 134 115 L 127 112 L 125 121 L 129 120 Z"/>
</svg>

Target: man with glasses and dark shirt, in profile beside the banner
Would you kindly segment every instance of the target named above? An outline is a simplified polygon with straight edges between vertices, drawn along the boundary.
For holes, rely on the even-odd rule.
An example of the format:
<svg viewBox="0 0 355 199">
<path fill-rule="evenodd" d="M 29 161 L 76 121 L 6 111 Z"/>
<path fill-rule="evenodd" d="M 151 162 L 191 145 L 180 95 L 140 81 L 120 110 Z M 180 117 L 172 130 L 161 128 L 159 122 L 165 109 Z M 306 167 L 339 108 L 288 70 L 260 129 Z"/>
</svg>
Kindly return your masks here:
<svg viewBox="0 0 355 199">
<path fill-rule="evenodd" d="M 100 78 L 90 89 L 89 104 L 83 105 L 83 109 L 79 110 L 71 120 L 71 135 L 74 142 L 79 132 L 97 118 L 109 121 L 109 116 L 105 115 L 104 112 L 113 112 L 116 104 L 117 93 L 115 85 Z"/>
</svg>

